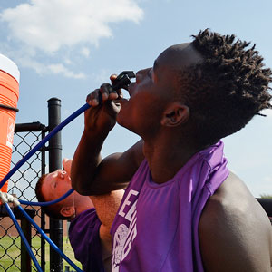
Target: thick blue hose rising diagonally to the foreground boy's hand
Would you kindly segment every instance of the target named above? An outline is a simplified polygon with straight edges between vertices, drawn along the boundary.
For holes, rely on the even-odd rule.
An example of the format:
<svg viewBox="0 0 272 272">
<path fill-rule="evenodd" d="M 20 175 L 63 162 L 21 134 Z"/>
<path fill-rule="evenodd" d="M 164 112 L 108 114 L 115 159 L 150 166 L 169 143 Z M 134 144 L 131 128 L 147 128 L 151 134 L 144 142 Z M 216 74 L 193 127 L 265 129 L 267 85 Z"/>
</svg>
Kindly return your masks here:
<svg viewBox="0 0 272 272">
<path fill-rule="evenodd" d="M 28 153 L 26 153 L 26 155 L 24 156 L 24 158 L 21 159 L 21 160 L 19 160 L 15 164 L 14 168 L 12 170 L 10 170 L 5 175 L 4 179 L 1 180 L 1 182 L 0 182 L 0 189 L 5 184 L 5 181 L 8 180 L 8 179 L 10 179 L 10 177 L 15 173 L 15 171 L 18 170 L 24 164 L 24 162 L 26 160 L 28 160 L 30 157 L 32 157 L 36 151 L 38 151 L 41 147 L 44 146 L 45 142 L 49 141 L 58 131 L 61 131 L 63 129 L 63 127 L 65 127 L 68 123 L 70 123 L 71 121 L 73 121 L 73 119 L 75 119 L 77 116 L 79 116 L 80 114 L 82 114 L 83 112 L 85 112 L 89 108 L 90 108 L 90 105 L 88 103 L 85 103 L 81 108 L 79 108 L 77 111 L 73 112 L 69 117 L 67 117 L 58 126 L 56 126 L 52 131 L 50 131 L 50 133 L 48 133 L 44 137 L 44 139 L 42 141 L 40 141 L 39 143 L 37 143 L 31 151 L 29 151 Z"/>
</svg>

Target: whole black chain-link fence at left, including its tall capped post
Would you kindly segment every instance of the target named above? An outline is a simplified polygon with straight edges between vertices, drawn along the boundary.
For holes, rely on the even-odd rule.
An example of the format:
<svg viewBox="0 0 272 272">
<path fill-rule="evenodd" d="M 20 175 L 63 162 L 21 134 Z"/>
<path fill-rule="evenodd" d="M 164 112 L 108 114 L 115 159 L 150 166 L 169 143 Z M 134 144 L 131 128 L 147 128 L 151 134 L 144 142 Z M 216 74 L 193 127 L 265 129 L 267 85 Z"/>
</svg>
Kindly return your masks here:
<svg viewBox="0 0 272 272">
<path fill-rule="evenodd" d="M 48 126 L 39 121 L 15 125 L 14 147 L 11 169 L 24 158 L 45 134 L 52 131 L 61 122 L 61 101 L 57 98 L 48 100 Z M 46 152 L 48 151 L 48 152 Z M 48 161 L 48 169 L 45 170 L 45 154 Z M 34 188 L 39 177 L 45 172 L 62 168 L 62 141 L 61 132 L 56 133 L 48 142 L 47 146 L 36 151 L 33 156 L 16 170 L 15 174 L 8 180 L 8 193 L 15 195 L 18 199 L 36 202 Z M 50 235 L 53 243 L 63 250 L 63 221 L 48 219 L 44 216 L 40 207 L 21 205 L 28 215 L 34 219 L 45 233 Z M 45 254 L 44 238 L 38 234 L 36 229 L 28 222 L 22 214 L 12 207 L 16 219 L 19 221 L 32 248 L 34 256 L 40 263 L 43 271 L 63 272 L 63 259 L 48 248 Z M 47 243 L 46 243 L 47 244 Z M 46 249 L 47 250 L 47 249 Z M 65 252 L 64 252 L 65 253 Z M 45 259 L 45 257 L 47 259 Z M 45 266 L 46 264 L 46 266 Z M 65 268 L 67 268 L 65 266 Z M 34 263 L 29 257 L 23 243 L 18 235 L 12 219 L 9 218 L 4 205 L 0 205 L 0 271 L 4 272 L 31 272 L 37 271 Z"/>
</svg>

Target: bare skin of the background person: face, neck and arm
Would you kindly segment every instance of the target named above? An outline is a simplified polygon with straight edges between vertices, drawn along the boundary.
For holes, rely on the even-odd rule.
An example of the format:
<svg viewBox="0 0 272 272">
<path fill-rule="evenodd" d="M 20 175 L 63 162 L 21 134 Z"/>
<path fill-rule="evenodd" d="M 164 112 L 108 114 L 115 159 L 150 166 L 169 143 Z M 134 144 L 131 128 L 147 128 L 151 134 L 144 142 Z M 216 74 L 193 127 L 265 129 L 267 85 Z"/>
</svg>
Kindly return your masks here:
<svg viewBox="0 0 272 272">
<path fill-rule="evenodd" d="M 55 170 L 46 175 L 43 181 L 42 193 L 46 201 L 59 199 L 68 190 L 72 189 L 70 170 L 72 160 L 63 159 L 63 169 Z M 81 212 L 87 209 L 96 209 L 96 214 L 102 222 L 99 228 L 100 239 L 102 243 L 102 260 L 105 271 L 111 271 L 112 263 L 112 236 L 110 229 L 112 227 L 112 220 L 115 217 L 116 211 L 120 205 L 123 190 L 116 190 L 112 193 L 102 196 L 83 196 L 77 191 L 67 198 L 63 199 L 62 209 L 60 213 L 63 217 L 73 219 Z"/>
</svg>

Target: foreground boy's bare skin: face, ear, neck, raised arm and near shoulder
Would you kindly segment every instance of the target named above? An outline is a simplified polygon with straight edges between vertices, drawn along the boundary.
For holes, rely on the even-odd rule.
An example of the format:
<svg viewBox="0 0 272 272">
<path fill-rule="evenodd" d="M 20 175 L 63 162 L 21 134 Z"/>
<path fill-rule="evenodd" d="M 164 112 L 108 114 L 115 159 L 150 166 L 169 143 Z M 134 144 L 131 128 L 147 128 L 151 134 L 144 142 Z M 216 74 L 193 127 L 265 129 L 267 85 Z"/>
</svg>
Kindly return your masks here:
<svg viewBox="0 0 272 272">
<path fill-rule="evenodd" d="M 92 107 L 85 112 L 83 136 L 73 157 L 73 188 L 83 194 L 124 188 L 144 158 L 152 180 L 164 183 L 203 149 L 190 137 L 193 127 L 189 107 L 183 102 L 177 77 L 177 71 L 202 61 L 192 44 L 177 44 L 160 53 L 152 68 L 137 72 L 136 83 L 129 86 L 129 100 L 113 103 L 118 94 L 109 94 L 110 84 L 102 84 L 90 93 L 87 102 Z M 99 92 L 103 102 L 97 106 Z M 103 141 L 116 120 L 142 140 L 129 150 L 102 160 Z M 268 272 L 270 229 L 267 215 L 257 200 L 230 173 L 209 199 L 199 222 L 199 243 L 206 271 Z"/>
</svg>

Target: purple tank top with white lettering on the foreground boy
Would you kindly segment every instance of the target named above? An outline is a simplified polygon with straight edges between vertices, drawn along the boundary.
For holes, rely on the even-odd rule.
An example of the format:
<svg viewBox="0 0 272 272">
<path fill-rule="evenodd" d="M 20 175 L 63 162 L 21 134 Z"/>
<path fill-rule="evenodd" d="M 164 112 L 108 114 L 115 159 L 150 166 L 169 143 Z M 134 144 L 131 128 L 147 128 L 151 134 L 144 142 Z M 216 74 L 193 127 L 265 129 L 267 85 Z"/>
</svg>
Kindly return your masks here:
<svg viewBox="0 0 272 272">
<path fill-rule="evenodd" d="M 143 160 L 112 224 L 112 272 L 204 271 L 199 218 L 228 177 L 223 142 L 196 153 L 165 183 Z"/>
</svg>

